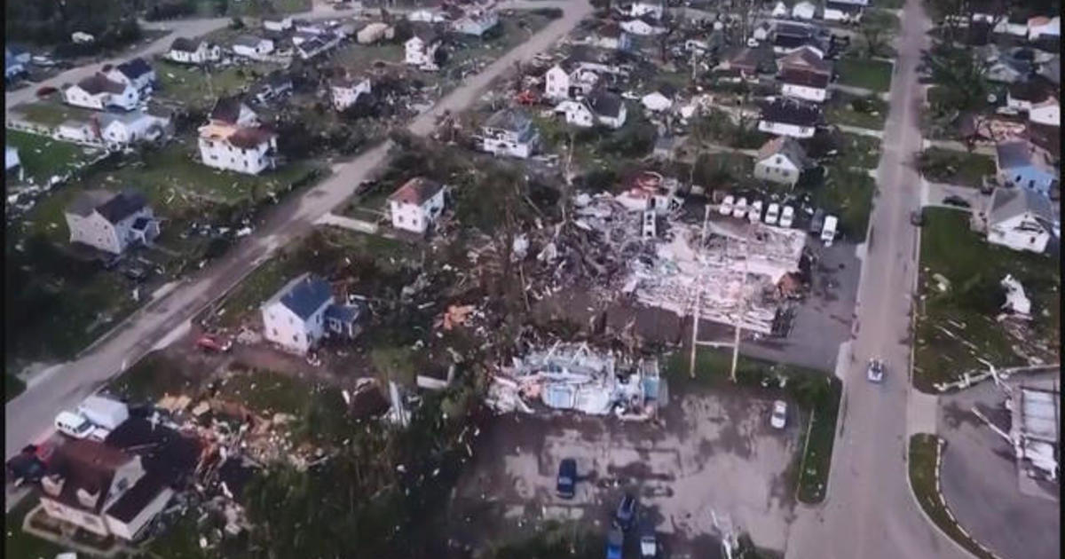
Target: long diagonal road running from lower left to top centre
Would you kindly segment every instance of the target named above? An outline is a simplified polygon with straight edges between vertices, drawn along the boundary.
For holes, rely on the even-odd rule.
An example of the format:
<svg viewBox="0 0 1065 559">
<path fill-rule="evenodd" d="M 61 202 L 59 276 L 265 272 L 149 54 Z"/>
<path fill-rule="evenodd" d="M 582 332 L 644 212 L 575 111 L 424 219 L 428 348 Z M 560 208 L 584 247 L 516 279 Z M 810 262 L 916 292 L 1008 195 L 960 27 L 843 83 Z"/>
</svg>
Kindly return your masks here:
<svg viewBox="0 0 1065 559">
<path fill-rule="evenodd" d="M 410 125 L 412 133 L 428 134 L 435 119 L 444 110 L 456 112 L 469 106 L 485 92 L 491 80 L 512 68 L 515 61 L 527 61 L 542 52 L 591 13 L 591 6 L 584 1 L 538 1 L 528 4 L 536 7 L 559 6 L 566 13 L 470 78 L 461 87 L 441 99 L 431 112 L 417 117 Z M 49 434 L 52 418 L 59 410 L 72 407 L 136 362 L 167 333 L 224 295 L 275 250 L 308 233 L 315 219 L 347 200 L 356 185 L 386 162 L 390 147 L 391 143 L 387 142 L 335 167 L 328 180 L 269 212 L 264 224 L 230 249 L 226 257 L 186 279 L 169 295 L 147 305 L 111 338 L 77 361 L 32 378 L 27 391 L 4 407 L 4 456 L 14 456 L 27 442 Z"/>
</svg>

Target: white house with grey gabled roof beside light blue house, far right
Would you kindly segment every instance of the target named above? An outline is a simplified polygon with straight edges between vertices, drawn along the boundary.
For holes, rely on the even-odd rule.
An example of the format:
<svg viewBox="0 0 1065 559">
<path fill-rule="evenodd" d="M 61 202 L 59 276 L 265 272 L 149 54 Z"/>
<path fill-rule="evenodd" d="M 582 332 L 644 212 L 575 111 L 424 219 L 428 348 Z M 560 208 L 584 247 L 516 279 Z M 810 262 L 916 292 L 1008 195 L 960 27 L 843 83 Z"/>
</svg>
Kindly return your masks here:
<svg viewBox="0 0 1065 559">
<path fill-rule="evenodd" d="M 1050 200 L 1028 188 L 995 188 L 987 212 L 987 242 L 1042 253 L 1053 227 Z"/>
</svg>

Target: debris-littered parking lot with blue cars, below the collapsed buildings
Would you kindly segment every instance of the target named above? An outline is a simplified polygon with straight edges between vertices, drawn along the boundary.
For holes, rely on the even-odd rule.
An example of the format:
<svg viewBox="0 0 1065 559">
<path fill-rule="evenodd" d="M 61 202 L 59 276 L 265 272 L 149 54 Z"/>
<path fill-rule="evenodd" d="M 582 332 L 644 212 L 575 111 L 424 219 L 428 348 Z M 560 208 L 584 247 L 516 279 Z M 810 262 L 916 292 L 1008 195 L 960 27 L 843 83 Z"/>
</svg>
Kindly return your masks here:
<svg viewBox="0 0 1065 559">
<path fill-rule="evenodd" d="M 788 425 L 773 429 L 771 405 L 730 389 L 674 394 L 659 421 L 646 424 L 499 416 L 478 438 L 459 482 L 450 514 L 456 543 L 512 540 L 546 520 L 571 519 L 605 533 L 629 491 L 672 557 L 714 557 L 707 554 L 720 548 L 715 513 L 759 547 L 783 549 L 793 507 L 788 468 L 801 450 L 805 417 L 789 406 Z M 569 500 L 555 494 L 564 458 L 576 459 L 579 480 Z"/>
</svg>

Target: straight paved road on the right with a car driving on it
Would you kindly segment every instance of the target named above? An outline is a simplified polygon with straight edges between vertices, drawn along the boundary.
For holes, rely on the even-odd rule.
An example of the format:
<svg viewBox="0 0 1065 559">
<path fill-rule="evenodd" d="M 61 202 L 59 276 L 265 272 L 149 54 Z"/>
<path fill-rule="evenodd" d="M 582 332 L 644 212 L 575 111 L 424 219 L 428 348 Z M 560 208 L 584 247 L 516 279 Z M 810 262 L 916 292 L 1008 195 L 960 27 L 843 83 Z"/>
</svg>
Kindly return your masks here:
<svg viewBox="0 0 1065 559">
<path fill-rule="evenodd" d="M 914 413 L 910 406 L 928 401 L 911 394 L 907 378 L 907 313 L 916 273 L 916 228 L 907 217 L 919 204 L 920 180 L 906 161 L 921 146 L 914 69 L 927 47 L 929 26 L 920 0 L 908 0 L 878 169 L 880 195 L 858 287 L 853 360 L 840 368 L 845 376 L 841 432 L 833 454 L 828 499 L 821 507 L 800 509 L 789 535 L 788 558 L 968 557 L 925 521 L 912 497 L 904 461 L 907 420 Z M 873 356 L 888 364 L 883 385 L 864 379 L 864 364 Z M 922 411 L 927 415 L 928 410 Z M 934 414 L 932 422 L 934 426 Z"/>
</svg>

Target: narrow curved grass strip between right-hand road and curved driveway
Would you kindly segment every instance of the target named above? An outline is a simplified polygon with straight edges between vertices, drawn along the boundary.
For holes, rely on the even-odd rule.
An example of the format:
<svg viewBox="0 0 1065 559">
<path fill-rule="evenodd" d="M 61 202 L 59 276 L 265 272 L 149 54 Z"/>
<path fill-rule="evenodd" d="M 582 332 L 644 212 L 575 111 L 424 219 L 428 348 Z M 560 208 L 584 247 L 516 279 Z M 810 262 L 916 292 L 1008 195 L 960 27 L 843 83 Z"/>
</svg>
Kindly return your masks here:
<svg viewBox="0 0 1065 559">
<path fill-rule="evenodd" d="M 929 515 L 932 522 L 957 542 L 981 559 L 997 559 L 962 532 L 960 526 L 950 516 L 947 505 L 937 491 L 937 460 L 939 457 L 939 439 L 934 434 L 919 433 L 910 438 L 910 488 L 917 497 L 917 503 Z"/>
</svg>

